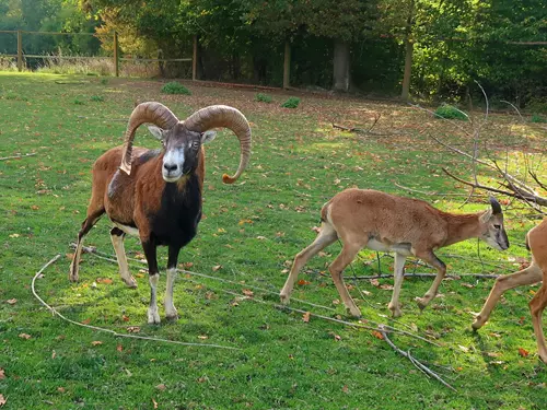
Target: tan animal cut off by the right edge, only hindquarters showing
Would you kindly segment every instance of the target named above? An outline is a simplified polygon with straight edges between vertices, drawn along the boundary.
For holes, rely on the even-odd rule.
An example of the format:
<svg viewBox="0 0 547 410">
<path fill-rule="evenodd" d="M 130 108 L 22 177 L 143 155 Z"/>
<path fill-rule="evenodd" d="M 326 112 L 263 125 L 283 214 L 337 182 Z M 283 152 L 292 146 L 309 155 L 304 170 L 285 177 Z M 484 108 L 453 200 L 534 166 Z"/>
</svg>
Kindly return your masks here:
<svg viewBox="0 0 547 410">
<path fill-rule="evenodd" d="M 486 324 L 493 307 L 505 291 L 543 281 L 542 288 L 536 292 L 532 301 L 529 301 L 529 311 L 532 313 L 532 323 L 534 325 L 539 358 L 544 363 L 547 363 L 547 347 L 542 326 L 542 315 L 545 306 L 547 306 L 547 219 L 528 231 L 526 234 L 526 246 L 532 253 L 532 263 L 519 272 L 503 274 L 496 279 L 490 295 L 472 326 L 474 329 L 480 329 Z"/>
</svg>

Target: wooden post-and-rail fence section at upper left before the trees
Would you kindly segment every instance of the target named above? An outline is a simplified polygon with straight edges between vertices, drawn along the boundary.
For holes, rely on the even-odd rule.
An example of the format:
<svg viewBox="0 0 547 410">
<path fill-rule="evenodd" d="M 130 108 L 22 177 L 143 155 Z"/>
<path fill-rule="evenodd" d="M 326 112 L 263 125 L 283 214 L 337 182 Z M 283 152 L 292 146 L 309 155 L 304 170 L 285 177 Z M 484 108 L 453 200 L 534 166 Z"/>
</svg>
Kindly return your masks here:
<svg viewBox="0 0 547 410">
<path fill-rule="evenodd" d="M 94 37 L 104 37 L 100 36 L 95 33 L 61 33 L 61 32 L 32 32 L 24 30 L 0 30 L 1 34 L 15 34 L 18 38 L 18 52 L 16 54 L 0 54 L 0 57 L 11 57 L 16 58 L 18 60 L 18 70 L 23 71 L 24 59 L 25 58 L 42 58 L 42 59 L 59 59 L 59 60 L 79 60 L 79 59 L 105 59 L 109 58 L 114 61 L 114 71 L 115 75 L 119 77 L 119 63 L 120 61 L 133 61 L 133 62 L 191 62 L 193 73 L 191 78 L 196 79 L 196 63 L 194 58 L 125 58 L 119 55 L 119 46 L 118 46 L 118 34 L 113 32 L 112 39 L 114 44 L 114 54 L 113 56 L 58 56 L 58 55 L 31 55 L 25 54 L 23 50 L 23 35 L 32 34 L 32 35 L 66 35 L 66 36 L 94 36 Z M 196 48 L 197 45 L 195 44 Z M 196 56 L 196 49 L 194 50 L 194 56 Z"/>
</svg>

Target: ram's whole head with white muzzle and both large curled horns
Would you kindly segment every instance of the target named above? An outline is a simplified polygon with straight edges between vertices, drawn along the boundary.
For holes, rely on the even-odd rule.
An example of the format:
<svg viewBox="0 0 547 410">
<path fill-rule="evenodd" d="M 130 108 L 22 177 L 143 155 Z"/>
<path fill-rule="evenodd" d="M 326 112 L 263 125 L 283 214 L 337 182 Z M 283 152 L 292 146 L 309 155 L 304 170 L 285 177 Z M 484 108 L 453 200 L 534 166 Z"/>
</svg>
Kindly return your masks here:
<svg viewBox="0 0 547 410">
<path fill-rule="evenodd" d="M 223 175 L 225 184 L 234 183 L 243 173 L 251 157 L 251 127 L 237 109 L 225 105 L 212 105 L 194 113 L 185 121 L 176 116 L 163 104 L 139 104 L 129 118 L 126 140 L 121 156 L 120 169 L 131 173 L 131 150 L 137 128 L 149 122 L 150 131 L 159 138 L 165 149 L 163 156 L 162 175 L 167 183 L 176 181 L 181 176 L 196 169 L 199 162 L 201 144 L 212 141 L 214 132 L 209 130 L 216 127 L 231 129 L 240 140 L 240 166 L 233 176 Z"/>
</svg>

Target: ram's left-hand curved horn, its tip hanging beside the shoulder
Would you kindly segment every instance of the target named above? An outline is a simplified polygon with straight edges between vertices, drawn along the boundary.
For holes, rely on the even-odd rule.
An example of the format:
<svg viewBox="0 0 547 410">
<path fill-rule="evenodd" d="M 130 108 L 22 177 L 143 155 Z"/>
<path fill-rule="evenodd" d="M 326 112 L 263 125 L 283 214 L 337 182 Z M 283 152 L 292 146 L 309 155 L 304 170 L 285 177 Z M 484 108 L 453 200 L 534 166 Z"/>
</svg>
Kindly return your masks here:
<svg viewBox="0 0 547 410">
<path fill-rule="evenodd" d="M 131 173 L 131 152 L 135 131 L 144 122 L 156 125 L 163 129 L 170 129 L 178 122 L 178 118 L 171 109 L 161 103 L 142 103 L 135 107 L 129 117 L 129 122 L 127 124 L 124 151 L 121 153 L 121 165 L 119 166 L 127 175 Z"/>
</svg>

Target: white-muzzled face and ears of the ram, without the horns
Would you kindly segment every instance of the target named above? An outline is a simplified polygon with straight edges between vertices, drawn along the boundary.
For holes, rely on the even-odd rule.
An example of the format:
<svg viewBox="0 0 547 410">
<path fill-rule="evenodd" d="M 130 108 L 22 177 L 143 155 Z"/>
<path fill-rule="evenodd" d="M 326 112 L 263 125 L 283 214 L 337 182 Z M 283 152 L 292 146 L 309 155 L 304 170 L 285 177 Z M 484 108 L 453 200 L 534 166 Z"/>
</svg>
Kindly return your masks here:
<svg viewBox="0 0 547 410">
<path fill-rule="evenodd" d="M 212 141 L 217 134 L 214 131 L 190 131 L 183 124 L 177 124 L 168 130 L 155 126 L 148 128 L 162 141 L 162 176 L 167 183 L 176 183 L 183 175 L 194 173 L 199 164 L 201 144 Z"/>
</svg>

